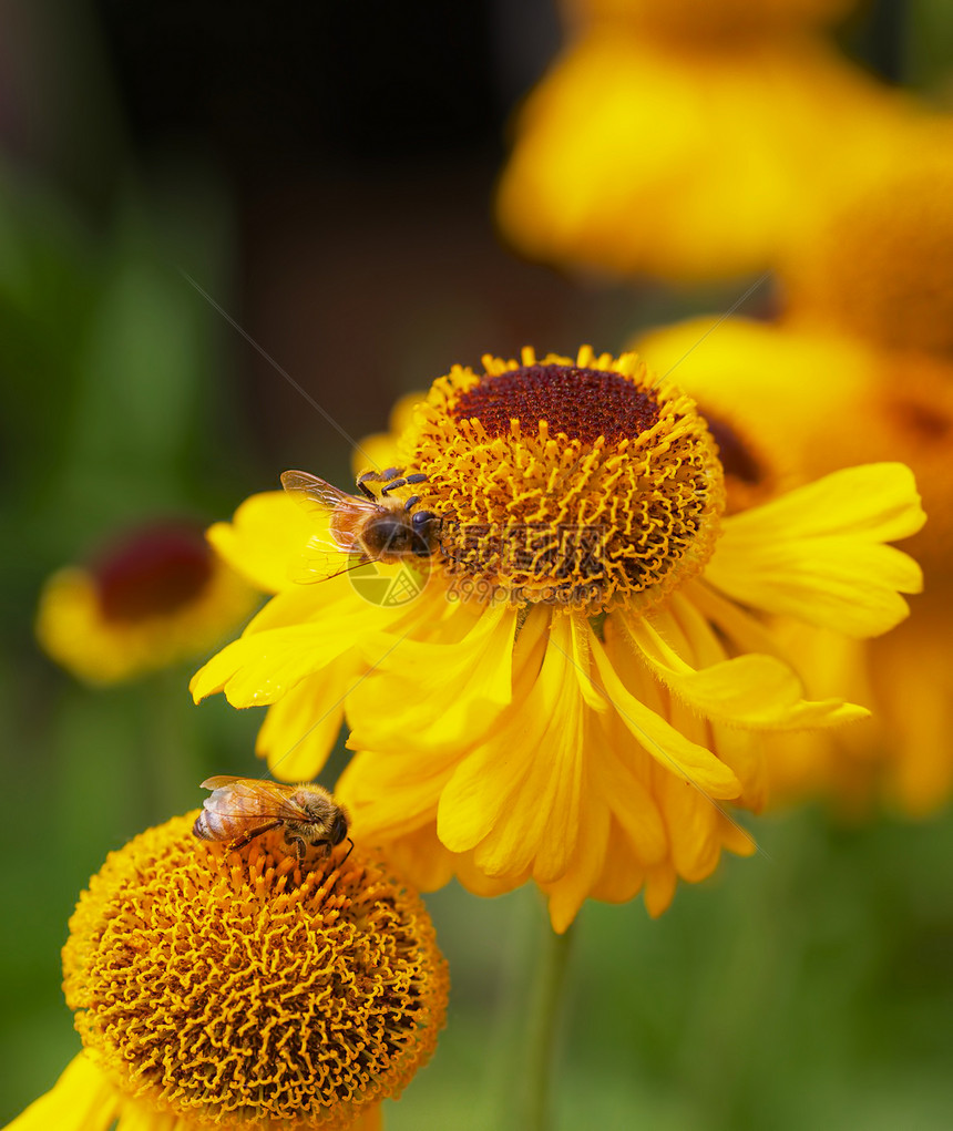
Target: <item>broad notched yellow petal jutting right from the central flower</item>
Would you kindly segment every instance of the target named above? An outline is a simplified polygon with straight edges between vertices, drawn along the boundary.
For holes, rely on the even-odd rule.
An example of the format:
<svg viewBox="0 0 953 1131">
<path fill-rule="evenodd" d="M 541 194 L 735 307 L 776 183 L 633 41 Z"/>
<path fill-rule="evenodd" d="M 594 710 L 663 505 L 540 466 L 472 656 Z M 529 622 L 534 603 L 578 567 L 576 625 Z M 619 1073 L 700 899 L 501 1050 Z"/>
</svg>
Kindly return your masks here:
<svg viewBox="0 0 953 1131">
<path fill-rule="evenodd" d="M 704 578 L 755 608 L 877 636 L 907 615 L 899 593 L 922 585 L 917 563 L 883 543 L 924 519 L 902 464 L 845 468 L 727 518 Z"/>
</svg>

